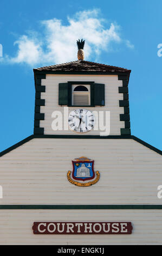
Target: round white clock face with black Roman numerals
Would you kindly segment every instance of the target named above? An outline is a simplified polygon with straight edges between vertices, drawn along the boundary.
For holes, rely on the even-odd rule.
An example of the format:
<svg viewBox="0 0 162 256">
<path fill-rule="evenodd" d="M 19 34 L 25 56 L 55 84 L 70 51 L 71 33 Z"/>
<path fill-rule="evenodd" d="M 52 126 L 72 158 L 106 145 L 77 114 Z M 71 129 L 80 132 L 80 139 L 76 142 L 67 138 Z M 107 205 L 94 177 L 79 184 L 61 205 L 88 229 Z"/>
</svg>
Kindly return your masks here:
<svg viewBox="0 0 162 256">
<path fill-rule="evenodd" d="M 88 109 L 75 109 L 69 113 L 69 127 L 76 132 L 88 132 L 94 126 L 94 115 Z"/>
</svg>

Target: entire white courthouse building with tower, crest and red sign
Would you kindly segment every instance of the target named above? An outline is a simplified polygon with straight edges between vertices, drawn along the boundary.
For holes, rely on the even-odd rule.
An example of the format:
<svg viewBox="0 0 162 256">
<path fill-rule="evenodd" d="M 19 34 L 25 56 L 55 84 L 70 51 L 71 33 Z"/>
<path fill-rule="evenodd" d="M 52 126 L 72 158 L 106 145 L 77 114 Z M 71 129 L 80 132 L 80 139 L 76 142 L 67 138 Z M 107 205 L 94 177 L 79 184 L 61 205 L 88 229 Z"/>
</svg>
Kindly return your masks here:
<svg viewBox="0 0 162 256">
<path fill-rule="evenodd" d="M 130 73 L 34 69 L 34 134 L 1 153 L 1 245 L 162 244 L 161 151 L 131 135 Z"/>
</svg>

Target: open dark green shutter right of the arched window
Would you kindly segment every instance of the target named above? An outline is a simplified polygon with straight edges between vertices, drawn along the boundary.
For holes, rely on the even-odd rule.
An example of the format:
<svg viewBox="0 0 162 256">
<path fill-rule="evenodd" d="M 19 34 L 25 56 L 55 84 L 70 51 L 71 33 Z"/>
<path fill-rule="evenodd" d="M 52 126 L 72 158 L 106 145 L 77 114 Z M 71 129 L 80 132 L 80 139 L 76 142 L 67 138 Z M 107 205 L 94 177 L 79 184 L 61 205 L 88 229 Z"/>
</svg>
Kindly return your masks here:
<svg viewBox="0 0 162 256">
<path fill-rule="evenodd" d="M 94 83 L 94 105 L 105 106 L 105 84 Z"/>
</svg>

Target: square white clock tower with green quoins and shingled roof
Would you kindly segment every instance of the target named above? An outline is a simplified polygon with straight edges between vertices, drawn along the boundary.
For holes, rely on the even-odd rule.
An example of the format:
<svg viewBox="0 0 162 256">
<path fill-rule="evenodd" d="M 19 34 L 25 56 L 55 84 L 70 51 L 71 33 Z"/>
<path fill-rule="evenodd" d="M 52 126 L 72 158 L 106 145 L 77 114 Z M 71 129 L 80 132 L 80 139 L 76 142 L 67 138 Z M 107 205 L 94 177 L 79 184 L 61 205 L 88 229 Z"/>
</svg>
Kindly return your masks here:
<svg viewBox="0 0 162 256">
<path fill-rule="evenodd" d="M 34 134 L 99 136 L 102 132 L 102 136 L 131 135 L 130 72 L 86 60 L 34 69 Z M 62 118 L 58 129 L 53 127 L 57 114 Z"/>
</svg>

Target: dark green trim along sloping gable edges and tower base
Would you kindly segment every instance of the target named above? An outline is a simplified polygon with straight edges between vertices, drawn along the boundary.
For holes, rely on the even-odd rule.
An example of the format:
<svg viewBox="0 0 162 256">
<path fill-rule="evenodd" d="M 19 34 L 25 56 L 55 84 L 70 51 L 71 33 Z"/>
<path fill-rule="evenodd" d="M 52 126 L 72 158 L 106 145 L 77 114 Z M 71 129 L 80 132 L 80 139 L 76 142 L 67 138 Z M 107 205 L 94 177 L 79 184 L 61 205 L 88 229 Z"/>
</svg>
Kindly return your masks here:
<svg viewBox="0 0 162 256">
<path fill-rule="evenodd" d="M 43 128 L 42 128 L 43 129 Z M 126 130 L 126 129 L 122 129 Z M 129 129 L 128 129 L 129 130 Z M 137 141 L 138 143 L 144 145 L 145 147 L 155 151 L 156 153 L 162 155 L 162 151 L 153 147 L 152 145 L 142 141 L 141 139 L 133 136 L 133 135 L 109 135 L 109 136 L 98 136 L 98 135 L 41 135 L 41 134 L 35 134 L 35 135 L 30 135 L 29 137 L 23 139 L 22 141 L 16 143 L 15 145 L 12 145 L 12 147 L 3 150 L 0 153 L 0 156 L 3 156 L 7 153 L 9 153 L 11 150 L 16 149 L 23 145 L 24 143 L 30 141 L 31 139 L 34 138 L 63 138 L 63 139 L 134 139 L 134 141 Z"/>
</svg>

